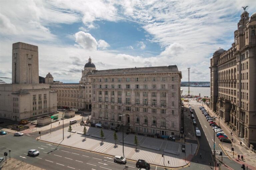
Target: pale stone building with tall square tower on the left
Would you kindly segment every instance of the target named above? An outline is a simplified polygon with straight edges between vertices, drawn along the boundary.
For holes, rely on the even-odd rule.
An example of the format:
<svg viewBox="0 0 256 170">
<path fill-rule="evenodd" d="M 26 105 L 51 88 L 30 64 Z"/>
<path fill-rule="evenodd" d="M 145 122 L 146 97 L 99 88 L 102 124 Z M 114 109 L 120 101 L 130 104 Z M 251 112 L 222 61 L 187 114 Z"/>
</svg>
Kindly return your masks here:
<svg viewBox="0 0 256 170">
<path fill-rule="evenodd" d="M 0 84 L 0 117 L 21 121 L 57 111 L 57 93 L 39 84 L 38 47 L 17 42 L 12 49 L 12 84 Z"/>
</svg>

